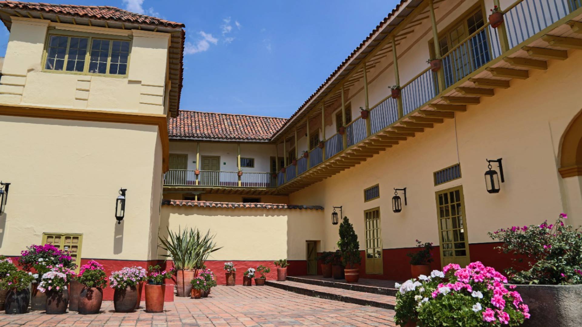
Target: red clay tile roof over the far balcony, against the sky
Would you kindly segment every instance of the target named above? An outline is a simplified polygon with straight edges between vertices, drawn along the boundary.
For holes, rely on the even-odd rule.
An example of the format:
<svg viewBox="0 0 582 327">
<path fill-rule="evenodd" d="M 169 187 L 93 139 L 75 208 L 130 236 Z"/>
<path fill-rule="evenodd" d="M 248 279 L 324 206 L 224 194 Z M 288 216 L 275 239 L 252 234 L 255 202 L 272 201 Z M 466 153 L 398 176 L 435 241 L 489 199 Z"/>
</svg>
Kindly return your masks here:
<svg viewBox="0 0 582 327">
<path fill-rule="evenodd" d="M 269 141 L 285 118 L 199 111 L 178 112 L 168 121 L 170 138 Z"/>
</svg>

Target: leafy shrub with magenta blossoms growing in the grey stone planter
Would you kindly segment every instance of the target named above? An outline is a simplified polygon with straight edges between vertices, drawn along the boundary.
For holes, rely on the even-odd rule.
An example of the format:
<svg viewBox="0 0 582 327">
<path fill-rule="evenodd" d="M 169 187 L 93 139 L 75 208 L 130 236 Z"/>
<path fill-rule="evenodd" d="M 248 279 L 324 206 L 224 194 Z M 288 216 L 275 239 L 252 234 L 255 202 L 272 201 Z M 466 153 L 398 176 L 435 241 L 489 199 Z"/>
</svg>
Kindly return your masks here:
<svg viewBox="0 0 582 327">
<path fill-rule="evenodd" d="M 514 254 L 515 266 L 508 269 L 509 279 L 516 284 L 572 285 L 582 284 L 582 232 L 566 225 L 566 214 L 555 223 L 512 226 L 489 236 L 501 241 L 502 253 Z"/>
</svg>

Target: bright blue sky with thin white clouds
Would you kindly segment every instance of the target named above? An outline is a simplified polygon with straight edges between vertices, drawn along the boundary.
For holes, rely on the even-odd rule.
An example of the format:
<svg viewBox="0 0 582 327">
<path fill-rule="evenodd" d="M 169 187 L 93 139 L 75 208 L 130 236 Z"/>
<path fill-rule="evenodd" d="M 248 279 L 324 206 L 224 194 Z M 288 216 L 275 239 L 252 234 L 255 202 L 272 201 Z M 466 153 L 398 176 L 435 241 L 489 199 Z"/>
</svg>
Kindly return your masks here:
<svg viewBox="0 0 582 327">
<path fill-rule="evenodd" d="M 180 108 L 288 118 L 396 0 L 59 0 L 186 24 Z M 3 56 L 8 33 L 0 33 Z"/>
</svg>

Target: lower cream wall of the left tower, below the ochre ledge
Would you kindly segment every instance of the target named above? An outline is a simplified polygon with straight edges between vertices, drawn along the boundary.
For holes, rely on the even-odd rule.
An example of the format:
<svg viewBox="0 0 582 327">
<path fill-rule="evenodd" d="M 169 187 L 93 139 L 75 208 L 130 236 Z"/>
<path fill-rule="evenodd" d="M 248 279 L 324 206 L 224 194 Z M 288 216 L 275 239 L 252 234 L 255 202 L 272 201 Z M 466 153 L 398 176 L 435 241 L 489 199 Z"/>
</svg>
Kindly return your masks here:
<svg viewBox="0 0 582 327">
<path fill-rule="evenodd" d="M 0 116 L 0 253 L 19 255 L 43 232 L 82 233 L 81 257 L 155 258 L 162 155 L 158 127 Z M 122 224 L 119 189 L 127 189 Z M 148 235 L 150 238 L 148 239 Z"/>
</svg>

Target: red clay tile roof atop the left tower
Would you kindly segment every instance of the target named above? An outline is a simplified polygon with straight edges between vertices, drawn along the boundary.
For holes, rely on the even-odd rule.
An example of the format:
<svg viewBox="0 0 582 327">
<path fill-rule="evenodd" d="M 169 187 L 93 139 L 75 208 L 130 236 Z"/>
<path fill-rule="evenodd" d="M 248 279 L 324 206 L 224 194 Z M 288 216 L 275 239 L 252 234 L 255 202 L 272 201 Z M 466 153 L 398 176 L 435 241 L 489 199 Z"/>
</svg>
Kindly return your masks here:
<svg viewBox="0 0 582 327">
<path fill-rule="evenodd" d="M 58 15 L 85 17 L 90 19 L 114 20 L 133 24 L 147 24 L 165 27 L 184 27 L 182 23 L 169 22 L 139 13 L 128 12 L 112 6 L 52 5 L 51 3 L 0 1 L 0 7 L 20 10 L 34 10 Z"/>
</svg>

